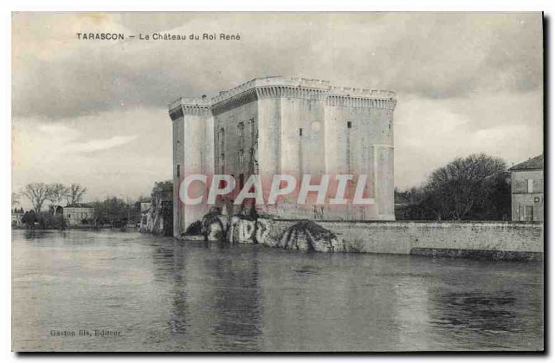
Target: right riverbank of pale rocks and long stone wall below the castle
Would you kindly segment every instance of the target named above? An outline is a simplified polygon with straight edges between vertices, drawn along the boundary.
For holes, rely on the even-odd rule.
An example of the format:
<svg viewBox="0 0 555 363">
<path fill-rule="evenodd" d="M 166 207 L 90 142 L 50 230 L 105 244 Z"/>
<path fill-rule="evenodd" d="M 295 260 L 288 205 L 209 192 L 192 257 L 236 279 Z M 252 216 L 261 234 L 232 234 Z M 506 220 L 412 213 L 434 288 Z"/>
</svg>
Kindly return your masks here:
<svg viewBox="0 0 555 363">
<path fill-rule="evenodd" d="M 542 260 L 544 249 L 541 222 L 226 220 L 217 216 L 205 221 L 205 237 L 303 251 L 490 260 Z"/>
</svg>

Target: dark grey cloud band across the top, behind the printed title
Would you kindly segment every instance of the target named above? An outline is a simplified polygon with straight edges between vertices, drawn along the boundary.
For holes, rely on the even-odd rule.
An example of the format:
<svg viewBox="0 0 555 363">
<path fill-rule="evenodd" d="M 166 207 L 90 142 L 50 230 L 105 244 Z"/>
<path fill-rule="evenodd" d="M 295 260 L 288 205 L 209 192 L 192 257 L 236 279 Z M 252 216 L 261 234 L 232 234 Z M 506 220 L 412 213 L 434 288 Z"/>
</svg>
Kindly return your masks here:
<svg viewBox="0 0 555 363">
<path fill-rule="evenodd" d="M 149 19 L 137 14 L 15 15 L 15 114 L 63 118 L 165 107 L 182 94 L 217 94 L 257 76 L 278 74 L 427 98 L 542 85 L 540 13 L 182 13 L 169 15 L 168 24 L 164 15 Z M 75 35 L 155 29 L 240 33 L 241 40 L 85 42 Z"/>
</svg>

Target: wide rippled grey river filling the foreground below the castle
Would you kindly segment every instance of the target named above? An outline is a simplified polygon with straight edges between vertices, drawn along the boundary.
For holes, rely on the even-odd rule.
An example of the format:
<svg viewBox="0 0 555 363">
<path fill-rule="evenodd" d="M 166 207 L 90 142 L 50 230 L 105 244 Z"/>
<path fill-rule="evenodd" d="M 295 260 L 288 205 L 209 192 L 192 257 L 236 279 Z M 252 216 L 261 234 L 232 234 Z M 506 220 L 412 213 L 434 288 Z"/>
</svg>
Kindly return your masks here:
<svg viewBox="0 0 555 363">
<path fill-rule="evenodd" d="M 12 231 L 12 342 L 17 351 L 538 350 L 543 264 Z"/>
</svg>

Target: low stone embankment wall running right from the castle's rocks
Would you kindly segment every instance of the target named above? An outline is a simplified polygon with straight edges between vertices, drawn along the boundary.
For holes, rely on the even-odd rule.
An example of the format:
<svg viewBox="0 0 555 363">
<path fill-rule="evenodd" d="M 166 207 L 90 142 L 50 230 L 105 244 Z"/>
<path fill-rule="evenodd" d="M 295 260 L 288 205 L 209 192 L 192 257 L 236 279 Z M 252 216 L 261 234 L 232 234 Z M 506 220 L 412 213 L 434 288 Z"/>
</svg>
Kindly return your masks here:
<svg viewBox="0 0 555 363">
<path fill-rule="evenodd" d="M 259 220 L 260 221 L 260 220 Z M 275 245 L 298 220 L 264 220 L 259 241 Z M 543 256 L 543 224 L 522 222 L 316 221 L 343 242 L 343 251 L 492 259 Z"/>
</svg>

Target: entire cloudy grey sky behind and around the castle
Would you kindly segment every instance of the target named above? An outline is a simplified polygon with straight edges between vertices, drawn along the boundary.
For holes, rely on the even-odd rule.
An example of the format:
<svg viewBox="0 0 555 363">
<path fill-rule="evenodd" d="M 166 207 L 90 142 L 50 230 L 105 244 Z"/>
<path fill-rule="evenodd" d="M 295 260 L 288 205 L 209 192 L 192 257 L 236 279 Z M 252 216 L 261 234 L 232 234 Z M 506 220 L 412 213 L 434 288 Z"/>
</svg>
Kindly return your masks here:
<svg viewBox="0 0 555 363">
<path fill-rule="evenodd" d="M 395 185 L 473 152 L 509 165 L 543 152 L 539 13 L 15 14 L 13 188 L 78 182 L 85 199 L 148 195 L 171 177 L 178 96 L 262 76 L 390 89 Z M 76 33 L 124 33 L 121 41 Z M 232 41 L 128 39 L 228 33 Z"/>
</svg>

